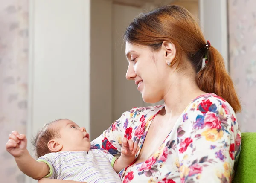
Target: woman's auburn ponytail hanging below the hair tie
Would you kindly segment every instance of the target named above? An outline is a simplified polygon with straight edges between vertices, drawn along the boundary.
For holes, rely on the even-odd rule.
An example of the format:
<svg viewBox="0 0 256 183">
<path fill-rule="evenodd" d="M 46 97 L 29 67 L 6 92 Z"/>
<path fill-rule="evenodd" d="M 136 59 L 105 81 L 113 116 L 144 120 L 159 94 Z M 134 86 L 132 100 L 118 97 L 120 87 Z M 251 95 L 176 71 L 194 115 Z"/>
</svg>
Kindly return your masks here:
<svg viewBox="0 0 256 183">
<path fill-rule="evenodd" d="M 207 51 L 208 62 L 197 74 L 199 88 L 207 93 L 215 93 L 225 99 L 235 113 L 241 112 L 241 105 L 236 95 L 233 81 L 227 73 L 224 59 L 212 46 Z"/>
</svg>

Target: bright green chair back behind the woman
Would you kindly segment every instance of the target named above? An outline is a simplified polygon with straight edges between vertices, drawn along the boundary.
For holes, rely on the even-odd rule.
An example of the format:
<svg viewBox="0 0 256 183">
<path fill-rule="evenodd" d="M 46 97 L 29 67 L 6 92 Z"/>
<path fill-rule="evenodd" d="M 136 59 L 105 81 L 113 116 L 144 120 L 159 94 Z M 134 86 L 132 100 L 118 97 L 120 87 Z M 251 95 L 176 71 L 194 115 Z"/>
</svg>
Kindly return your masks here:
<svg viewBox="0 0 256 183">
<path fill-rule="evenodd" d="M 256 133 L 242 133 L 233 183 L 256 183 Z"/>
</svg>

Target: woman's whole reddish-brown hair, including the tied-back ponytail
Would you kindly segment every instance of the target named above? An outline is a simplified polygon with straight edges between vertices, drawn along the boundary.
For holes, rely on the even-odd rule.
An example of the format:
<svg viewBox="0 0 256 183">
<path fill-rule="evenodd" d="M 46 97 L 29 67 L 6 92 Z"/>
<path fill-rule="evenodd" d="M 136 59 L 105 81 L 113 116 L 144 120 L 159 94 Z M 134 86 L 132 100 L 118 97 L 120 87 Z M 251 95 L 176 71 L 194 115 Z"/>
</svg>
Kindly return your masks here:
<svg viewBox="0 0 256 183">
<path fill-rule="evenodd" d="M 233 82 L 225 69 L 224 59 L 213 46 L 207 49 L 198 23 L 185 8 L 169 5 L 140 14 L 125 30 L 124 40 L 150 46 L 154 51 L 160 49 L 163 41 L 172 42 L 176 46 L 176 57 L 171 67 L 177 64 L 178 68 L 183 55 L 186 55 L 197 73 L 199 88 L 221 96 L 235 112 L 241 111 Z M 205 54 L 208 62 L 202 68 Z"/>
</svg>

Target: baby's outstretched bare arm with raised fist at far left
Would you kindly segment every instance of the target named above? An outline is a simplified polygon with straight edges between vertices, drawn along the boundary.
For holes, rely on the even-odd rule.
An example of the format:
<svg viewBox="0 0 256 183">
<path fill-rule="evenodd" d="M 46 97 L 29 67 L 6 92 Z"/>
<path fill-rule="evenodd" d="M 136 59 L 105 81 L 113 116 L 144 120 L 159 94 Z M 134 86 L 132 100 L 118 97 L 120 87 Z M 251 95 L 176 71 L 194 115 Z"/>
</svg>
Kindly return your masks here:
<svg viewBox="0 0 256 183">
<path fill-rule="evenodd" d="M 26 149 L 27 139 L 24 134 L 12 131 L 6 143 L 6 150 L 12 154 L 20 170 L 27 176 L 39 180 L 49 174 L 49 166 L 32 158 Z"/>
</svg>

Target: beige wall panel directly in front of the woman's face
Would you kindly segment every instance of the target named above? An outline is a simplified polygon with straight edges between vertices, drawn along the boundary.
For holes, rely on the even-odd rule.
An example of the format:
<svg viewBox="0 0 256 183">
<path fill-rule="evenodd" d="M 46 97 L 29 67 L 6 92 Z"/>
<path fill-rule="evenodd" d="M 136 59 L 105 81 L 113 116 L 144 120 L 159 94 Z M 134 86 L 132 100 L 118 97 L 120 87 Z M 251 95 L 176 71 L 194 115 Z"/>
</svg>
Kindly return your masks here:
<svg viewBox="0 0 256 183">
<path fill-rule="evenodd" d="M 123 112 L 133 107 L 143 107 L 141 93 L 134 81 L 128 81 L 125 73 L 128 61 L 122 35 L 125 28 L 142 9 L 132 6 L 113 5 L 113 119 L 119 119 Z"/>
</svg>

